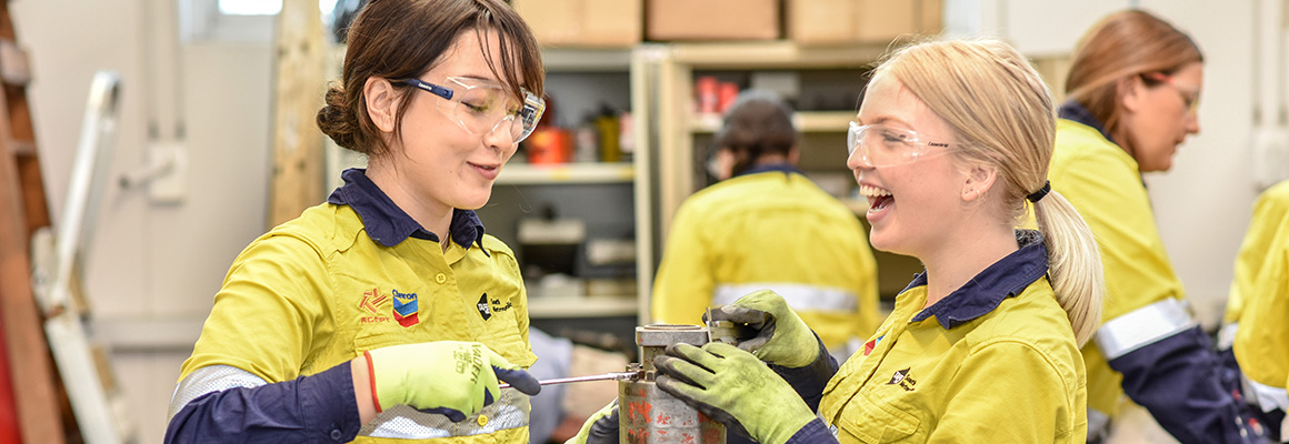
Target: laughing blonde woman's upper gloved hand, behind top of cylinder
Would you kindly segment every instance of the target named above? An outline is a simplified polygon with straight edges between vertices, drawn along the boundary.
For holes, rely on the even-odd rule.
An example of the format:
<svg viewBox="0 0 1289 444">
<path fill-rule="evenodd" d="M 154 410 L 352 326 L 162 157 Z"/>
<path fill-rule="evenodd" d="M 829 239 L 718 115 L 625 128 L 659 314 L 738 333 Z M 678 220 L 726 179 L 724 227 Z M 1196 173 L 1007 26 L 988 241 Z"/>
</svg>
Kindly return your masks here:
<svg viewBox="0 0 1289 444">
<path fill-rule="evenodd" d="M 730 305 L 706 314 L 703 320 L 730 320 L 746 324 L 757 336 L 742 341 L 739 347 L 771 364 L 789 368 L 809 365 L 819 358 L 819 338 L 815 331 L 788 306 L 782 296 L 770 290 L 751 292 Z"/>
</svg>

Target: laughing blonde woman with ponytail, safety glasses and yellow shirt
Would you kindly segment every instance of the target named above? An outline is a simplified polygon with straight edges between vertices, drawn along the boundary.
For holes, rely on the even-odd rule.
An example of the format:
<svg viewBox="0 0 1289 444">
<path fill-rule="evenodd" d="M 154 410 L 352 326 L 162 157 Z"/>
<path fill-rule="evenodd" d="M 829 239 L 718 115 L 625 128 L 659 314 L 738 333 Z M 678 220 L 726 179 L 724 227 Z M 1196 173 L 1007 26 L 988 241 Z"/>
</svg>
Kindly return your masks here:
<svg viewBox="0 0 1289 444">
<path fill-rule="evenodd" d="M 1079 346 L 1103 284 L 1092 232 L 1047 183 L 1054 131 L 1051 91 L 1007 44 L 897 50 L 867 86 L 847 166 L 873 247 L 926 272 L 840 369 L 761 291 L 712 315 L 767 328 L 737 347 L 668 347 L 659 387 L 770 444 L 1081 444 Z M 1030 206 L 1038 229 L 1014 229 Z"/>
</svg>

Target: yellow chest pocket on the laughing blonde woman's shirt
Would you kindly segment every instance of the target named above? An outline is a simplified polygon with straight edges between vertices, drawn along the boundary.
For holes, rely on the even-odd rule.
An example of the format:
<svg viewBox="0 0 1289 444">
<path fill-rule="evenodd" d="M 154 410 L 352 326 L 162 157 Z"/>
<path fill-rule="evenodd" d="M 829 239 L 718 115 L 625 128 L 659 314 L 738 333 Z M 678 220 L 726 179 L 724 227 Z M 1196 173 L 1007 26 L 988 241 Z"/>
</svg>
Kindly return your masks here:
<svg viewBox="0 0 1289 444">
<path fill-rule="evenodd" d="M 860 443 L 898 443 L 913 438 L 922 421 L 888 403 L 875 403 L 871 393 L 861 391 L 842 408 L 838 429 Z"/>
</svg>

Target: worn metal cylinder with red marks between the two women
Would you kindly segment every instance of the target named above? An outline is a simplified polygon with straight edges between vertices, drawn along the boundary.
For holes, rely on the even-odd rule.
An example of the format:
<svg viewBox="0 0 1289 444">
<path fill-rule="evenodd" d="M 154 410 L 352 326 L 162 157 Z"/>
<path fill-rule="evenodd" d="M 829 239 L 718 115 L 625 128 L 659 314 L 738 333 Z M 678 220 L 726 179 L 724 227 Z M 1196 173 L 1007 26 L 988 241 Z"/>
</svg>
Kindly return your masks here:
<svg viewBox="0 0 1289 444">
<path fill-rule="evenodd" d="M 628 369 L 643 371 L 638 381 L 617 382 L 619 440 L 630 444 L 724 444 L 726 430 L 654 382 L 654 356 L 668 345 L 708 342 L 708 327 L 651 324 L 635 327 L 641 363 Z"/>
</svg>

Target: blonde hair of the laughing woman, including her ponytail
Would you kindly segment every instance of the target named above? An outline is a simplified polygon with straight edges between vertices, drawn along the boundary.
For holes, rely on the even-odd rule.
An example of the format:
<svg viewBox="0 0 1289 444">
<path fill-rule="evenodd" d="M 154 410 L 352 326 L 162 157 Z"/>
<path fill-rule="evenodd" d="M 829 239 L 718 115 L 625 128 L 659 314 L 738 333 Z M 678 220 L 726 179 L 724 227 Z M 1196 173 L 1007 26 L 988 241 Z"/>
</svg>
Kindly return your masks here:
<svg viewBox="0 0 1289 444">
<path fill-rule="evenodd" d="M 897 50 L 875 69 L 893 76 L 954 129 L 954 156 L 1002 179 L 1004 216 L 1025 215 L 1047 184 L 1056 144 L 1052 93 L 1034 66 L 996 40 L 929 41 Z M 1081 346 L 1101 323 L 1105 281 L 1092 229 L 1060 192 L 1034 203 L 1047 241 L 1048 275 Z"/>
</svg>

